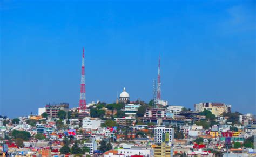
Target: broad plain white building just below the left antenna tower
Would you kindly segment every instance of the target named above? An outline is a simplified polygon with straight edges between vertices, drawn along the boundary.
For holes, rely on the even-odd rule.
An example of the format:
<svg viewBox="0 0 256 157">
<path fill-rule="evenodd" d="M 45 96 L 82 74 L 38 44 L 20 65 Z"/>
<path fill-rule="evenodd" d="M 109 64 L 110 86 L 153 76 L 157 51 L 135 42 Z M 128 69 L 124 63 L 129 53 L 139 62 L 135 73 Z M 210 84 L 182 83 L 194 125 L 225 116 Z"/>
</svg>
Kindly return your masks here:
<svg viewBox="0 0 256 157">
<path fill-rule="evenodd" d="M 85 129 L 98 129 L 102 123 L 99 118 L 85 117 L 83 119 L 83 128 Z"/>
</svg>

